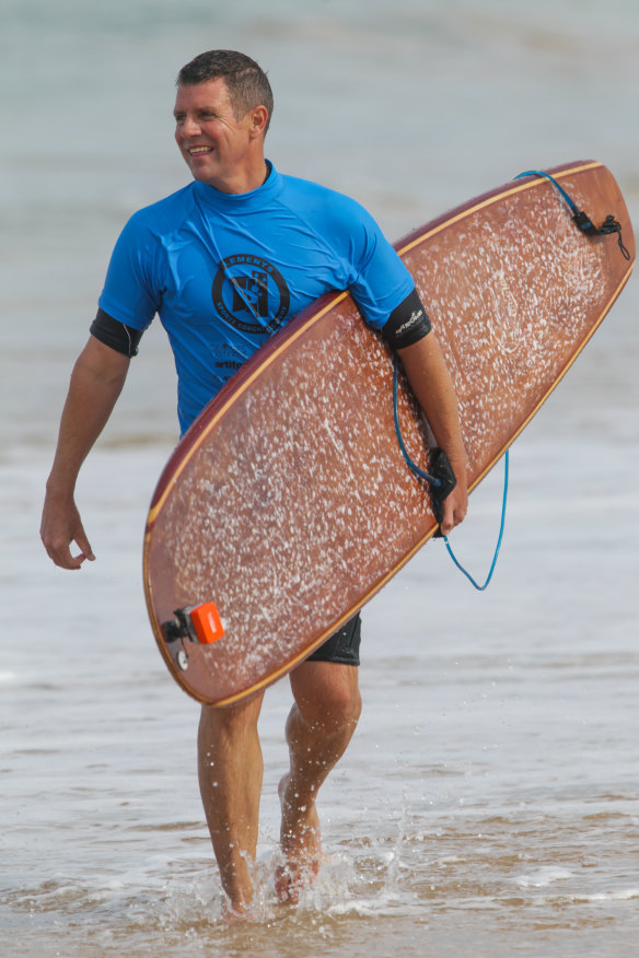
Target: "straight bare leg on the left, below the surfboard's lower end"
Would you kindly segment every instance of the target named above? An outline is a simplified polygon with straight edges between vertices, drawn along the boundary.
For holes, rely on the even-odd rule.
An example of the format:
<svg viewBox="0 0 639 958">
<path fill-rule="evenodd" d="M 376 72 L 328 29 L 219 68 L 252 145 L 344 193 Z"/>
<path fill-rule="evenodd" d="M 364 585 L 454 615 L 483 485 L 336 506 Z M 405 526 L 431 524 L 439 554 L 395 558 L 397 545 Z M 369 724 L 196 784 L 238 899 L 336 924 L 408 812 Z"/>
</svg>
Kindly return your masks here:
<svg viewBox="0 0 639 958">
<path fill-rule="evenodd" d="M 257 849 L 263 778 L 257 718 L 263 697 L 226 709 L 202 705 L 198 735 L 207 823 L 222 886 L 239 914 L 253 899 L 251 865 Z"/>
</svg>

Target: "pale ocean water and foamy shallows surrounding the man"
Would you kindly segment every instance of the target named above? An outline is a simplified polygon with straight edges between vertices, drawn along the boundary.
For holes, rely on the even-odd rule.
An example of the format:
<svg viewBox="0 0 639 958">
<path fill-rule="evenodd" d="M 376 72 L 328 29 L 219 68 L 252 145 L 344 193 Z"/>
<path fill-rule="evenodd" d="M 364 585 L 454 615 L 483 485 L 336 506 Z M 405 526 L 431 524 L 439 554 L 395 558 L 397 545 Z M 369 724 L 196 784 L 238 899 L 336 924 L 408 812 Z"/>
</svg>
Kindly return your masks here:
<svg viewBox="0 0 639 958">
<path fill-rule="evenodd" d="M 286 681 L 260 729 L 258 904 L 228 924 L 197 791 L 197 705 L 146 619 L 141 537 L 176 439 L 146 335 L 85 464 L 97 556 L 37 528 L 74 357 L 126 217 L 187 180 L 177 69 L 269 71 L 268 155 L 397 238 L 531 167 L 602 160 L 639 220 L 631 0 L 2 0 L 0 954 L 639 954 L 639 293 L 631 280 L 515 443 L 506 541 L 475 593 L 430 544 L 368 607 L 364 713 L 322 793 L 326 861 L 276 903 Z M 499 468 L 453 538 L 480 575 Z"/>
</svg>

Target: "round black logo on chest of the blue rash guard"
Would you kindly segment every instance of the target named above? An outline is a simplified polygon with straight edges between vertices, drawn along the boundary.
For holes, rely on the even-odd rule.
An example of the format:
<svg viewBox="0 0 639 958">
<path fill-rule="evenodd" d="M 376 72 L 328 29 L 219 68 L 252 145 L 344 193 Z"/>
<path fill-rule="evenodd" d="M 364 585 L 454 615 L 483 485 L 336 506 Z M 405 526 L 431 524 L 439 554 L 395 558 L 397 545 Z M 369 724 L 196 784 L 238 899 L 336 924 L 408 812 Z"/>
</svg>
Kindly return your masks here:
<svg viewBox="0 0 639 958">
<path fill-rule="evenodd" d="M 220 316 L 235 329 L 269 336 L 283 325 L 291 302 L 281 272 L 267 259 L 247 253 L 220 261 L 212 297 Z"/>
</svg>

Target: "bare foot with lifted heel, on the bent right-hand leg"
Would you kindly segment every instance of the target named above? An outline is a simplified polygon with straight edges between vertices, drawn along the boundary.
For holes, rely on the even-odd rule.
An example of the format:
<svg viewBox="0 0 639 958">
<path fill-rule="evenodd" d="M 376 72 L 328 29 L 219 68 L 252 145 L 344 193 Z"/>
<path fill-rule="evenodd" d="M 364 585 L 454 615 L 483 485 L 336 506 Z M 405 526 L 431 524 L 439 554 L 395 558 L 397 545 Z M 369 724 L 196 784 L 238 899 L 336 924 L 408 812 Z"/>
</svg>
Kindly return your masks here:
<svg viewBox="0 0 639 958">
<path fill-rule="evenodd" d="M 297 903 L 302 889 L 320 872 L 320 817 L 314 802 L 299 805 L 297 796 L 289 794 L 289 775 L 282 778 L 278 793 L 282 808 L 280 840 L 286 862 L 276 871 L 275 888 L 280 901 Z"/>
</svg>

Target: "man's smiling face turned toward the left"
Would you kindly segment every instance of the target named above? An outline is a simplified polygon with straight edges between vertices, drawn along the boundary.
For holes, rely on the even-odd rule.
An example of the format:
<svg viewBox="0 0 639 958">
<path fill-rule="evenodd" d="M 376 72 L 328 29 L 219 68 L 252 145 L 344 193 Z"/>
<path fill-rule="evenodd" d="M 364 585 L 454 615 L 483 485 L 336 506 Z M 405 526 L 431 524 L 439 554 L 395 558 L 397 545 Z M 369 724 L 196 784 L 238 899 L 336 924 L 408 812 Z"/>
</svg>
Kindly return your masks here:
<svg viewBox="0 0 639 958">
<path fill-rule="evenodd" d="M 259 107 L 258 107 L 259 109 Z M 221 192 L 245 192 L 255 162 L 254 112 L 236 119 L 223 79 L 178 86 L 175 140 L 195 179 Z"/>
</svg>

